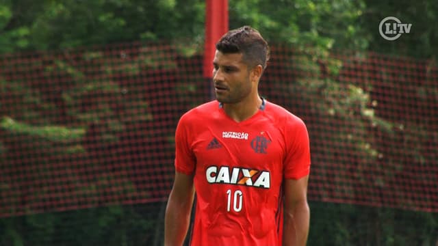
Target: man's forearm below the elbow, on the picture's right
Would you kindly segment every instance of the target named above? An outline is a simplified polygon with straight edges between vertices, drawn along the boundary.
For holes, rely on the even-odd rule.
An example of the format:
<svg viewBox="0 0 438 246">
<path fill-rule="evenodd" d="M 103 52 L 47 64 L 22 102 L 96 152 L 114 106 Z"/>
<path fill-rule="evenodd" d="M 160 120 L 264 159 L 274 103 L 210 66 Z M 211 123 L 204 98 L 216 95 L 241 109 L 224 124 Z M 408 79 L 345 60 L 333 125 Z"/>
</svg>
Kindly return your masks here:
<svg viewBox="0 0 438 246">
<path fill-rule="evenodd" d="M 309 235 L 310 210 L 307 202 L 296 204 L 291 212 L 285 211 L 283 225 L 284 246 L 305 246 Z"/>
</svg>

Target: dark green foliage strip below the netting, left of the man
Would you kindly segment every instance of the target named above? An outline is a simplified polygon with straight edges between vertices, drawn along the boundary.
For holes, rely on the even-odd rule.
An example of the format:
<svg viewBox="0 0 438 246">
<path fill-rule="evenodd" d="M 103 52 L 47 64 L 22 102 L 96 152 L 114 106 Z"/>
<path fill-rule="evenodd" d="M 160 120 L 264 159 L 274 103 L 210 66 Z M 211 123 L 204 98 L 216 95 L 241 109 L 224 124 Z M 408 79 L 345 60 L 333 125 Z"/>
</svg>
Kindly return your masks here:
<svg viewBox="0 0 438 246">
<path fill-rule="evenodd" d="M 107 206 L 0 220 L 3 245 L 149 245 L 162 204 Z M 146 215 L 145 215 L 145 212 Z"/>
</svg>

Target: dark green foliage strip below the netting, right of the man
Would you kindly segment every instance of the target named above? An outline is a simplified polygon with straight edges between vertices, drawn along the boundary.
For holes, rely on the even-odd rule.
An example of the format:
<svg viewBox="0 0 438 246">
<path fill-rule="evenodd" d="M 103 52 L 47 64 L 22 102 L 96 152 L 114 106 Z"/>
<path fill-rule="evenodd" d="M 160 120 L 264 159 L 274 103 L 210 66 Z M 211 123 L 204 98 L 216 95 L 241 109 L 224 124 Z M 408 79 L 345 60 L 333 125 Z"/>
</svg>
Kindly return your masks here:
<svg viewBox="0 0 438 246">
<path fill-rule="evenodd" d="M 308 245 L 435 245 L 438 215 L 392 208 L 311 202 Z"/>
</svg>

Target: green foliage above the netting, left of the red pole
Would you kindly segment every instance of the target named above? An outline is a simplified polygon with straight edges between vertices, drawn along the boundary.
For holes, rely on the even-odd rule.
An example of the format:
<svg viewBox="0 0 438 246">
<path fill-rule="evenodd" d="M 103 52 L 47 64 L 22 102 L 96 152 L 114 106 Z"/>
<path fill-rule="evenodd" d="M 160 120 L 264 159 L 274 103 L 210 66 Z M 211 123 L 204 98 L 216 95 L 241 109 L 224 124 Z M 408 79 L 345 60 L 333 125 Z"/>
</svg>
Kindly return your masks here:
<svg viewBox="0 0 438 246">
<path fill-rule="evenodd" d="M 0 52 L 196 40 L 203 35 L 204 6 L 195 0 L 10 1 L 0 8 Z"/>
</svg>

